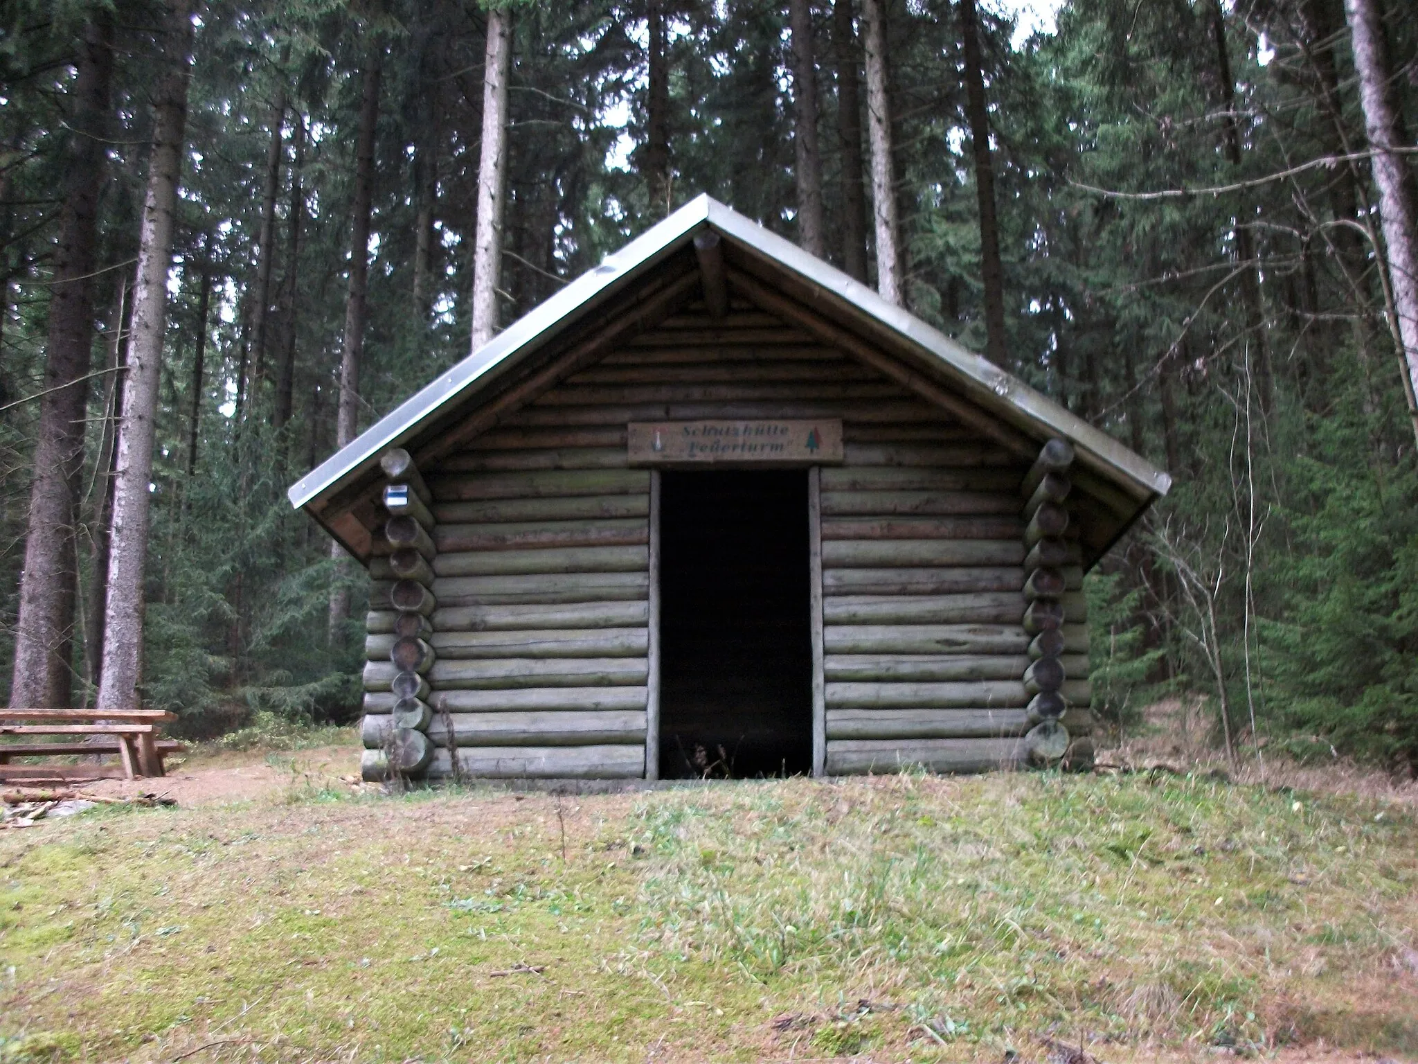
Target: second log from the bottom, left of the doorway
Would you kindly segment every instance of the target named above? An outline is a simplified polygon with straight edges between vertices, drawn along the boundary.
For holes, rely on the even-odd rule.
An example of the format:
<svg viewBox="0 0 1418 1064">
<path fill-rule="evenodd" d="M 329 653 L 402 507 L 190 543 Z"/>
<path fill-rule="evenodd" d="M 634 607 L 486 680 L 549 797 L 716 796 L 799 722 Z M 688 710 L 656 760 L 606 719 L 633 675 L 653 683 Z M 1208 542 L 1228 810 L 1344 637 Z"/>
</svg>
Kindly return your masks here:
<svg viewBox="0 0 1418 1064">
<path fill-rule="evenodd" d="M 387 714 L 369 714 L 360 722 L 366 749 L 380 749 L 393 731 Z M 450 725 L 452 742 L 450 742 Z M 642 709 L 550 711 L 503 714 L 438 714 L 428 725 L 437 746 L 586 746 L 588 743 L 642 743 Z"/>
</svg>

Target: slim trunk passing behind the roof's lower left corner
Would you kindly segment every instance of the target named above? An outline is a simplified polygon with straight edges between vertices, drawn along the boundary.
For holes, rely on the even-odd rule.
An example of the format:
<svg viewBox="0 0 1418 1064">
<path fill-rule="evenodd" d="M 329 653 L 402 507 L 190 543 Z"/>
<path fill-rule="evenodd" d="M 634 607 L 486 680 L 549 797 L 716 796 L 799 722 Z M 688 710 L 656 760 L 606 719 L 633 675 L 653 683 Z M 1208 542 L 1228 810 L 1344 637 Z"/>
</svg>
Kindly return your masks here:
<svg viewBox="0 0 1418 1064">
<path fill-rule="evenodd" d="M 379 125 L 379 81 L 384 48 L 374 44 L 364 68 L 359 133 L 354 142 L 354 203 L 350 207 L 350 281 L 345 297 L 345 340 L 340 349 L 340 401 L 335 416 L 335 443 L 347 447 L 359 434 L 359 363 L 364 353 L 364 295 L 369 282 L 369 218 L 374 199 L 374 133 Z M 345 548 L 330 541 L 335 587 L 330 590 L 330 645 L 339 645 L 350 611 L 349 560 Z"/>
</svg>

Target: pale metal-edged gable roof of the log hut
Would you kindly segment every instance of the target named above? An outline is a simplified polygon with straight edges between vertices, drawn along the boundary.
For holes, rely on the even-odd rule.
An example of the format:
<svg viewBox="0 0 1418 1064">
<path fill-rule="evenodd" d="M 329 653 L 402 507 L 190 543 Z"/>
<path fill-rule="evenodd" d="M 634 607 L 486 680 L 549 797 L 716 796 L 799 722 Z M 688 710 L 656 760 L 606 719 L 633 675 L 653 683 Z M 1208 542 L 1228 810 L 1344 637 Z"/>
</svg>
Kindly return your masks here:
<svg viewBox="0 0 1418 1064">
<path fill-rule="evenodd" d="M 520 355 L 530 355 L 613 291 L 623 289 L 655 262 L 685 247 L 703 227 L 716 230 L 760 260 L 795 274 L 820 295 L 835 297 L 839 305 L 864 316 L 878 331 L 885 329 L 895 339 L 905 340 L 919 355 L 929 356 L 932 367 L 956 383 L 964 397 L 973 399 L 980 407 L 1007 413 L 1011 421 L 1041 440 L 1054 436 L 1069 440 L 1082 458 L 1092 460 L 1089 465 L 1129 487 L 1132 494 L 1166 495 L 1171 487 L 1171 478 L 1146 458 L 1071 414 L 1018 377 L 967 350 L 905 308 L 886 302 L 865 284 L 770 233 L 752 218 L 709 196 L 699 196 L 529 311 L 467 359 L 400 403 L 353 443 L 315 467 L 291 485 L 286 492 L 291 505 L 299 509 L 350 475 L 367 470 L 384 450 L 410 440 L 418 426 L 432 414 L 476 396 L 482 383 L 498 376 L 495 370 L 513 365 Z M 1143 505 L 1146 504 L 1139 502 L 1139 509 Z"/>
</svg>

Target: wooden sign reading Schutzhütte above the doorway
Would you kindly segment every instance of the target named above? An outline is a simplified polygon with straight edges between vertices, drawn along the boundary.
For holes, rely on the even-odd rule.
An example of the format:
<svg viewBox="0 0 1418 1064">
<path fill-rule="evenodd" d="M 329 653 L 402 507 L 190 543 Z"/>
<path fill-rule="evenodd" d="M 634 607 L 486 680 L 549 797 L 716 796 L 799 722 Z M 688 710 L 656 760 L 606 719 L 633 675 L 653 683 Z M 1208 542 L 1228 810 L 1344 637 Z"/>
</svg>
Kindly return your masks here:
<svg viewBox="0 0 1418 1064">
<path fill-rule="evenodd" d="M 627 428 L 632 465 L 842 461 L 842 423 L 832 417 L 814 421 L 631 421 Z"/>
</svg>

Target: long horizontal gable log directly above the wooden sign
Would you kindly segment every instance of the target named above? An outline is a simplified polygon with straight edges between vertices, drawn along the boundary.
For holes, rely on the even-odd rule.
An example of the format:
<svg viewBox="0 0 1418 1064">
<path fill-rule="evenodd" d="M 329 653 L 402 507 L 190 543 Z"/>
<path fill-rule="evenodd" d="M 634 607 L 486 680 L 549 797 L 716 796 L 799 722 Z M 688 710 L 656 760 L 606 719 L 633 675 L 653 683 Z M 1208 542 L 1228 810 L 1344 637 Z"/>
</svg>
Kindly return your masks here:
<svg viewBox="0 0 1418 1064">
<path fill-rule="evenodd" d="M 947 414 L 919 399 L 876 399 L 869 403 L 851 399 L 818 400 L 720 400 L 713 403 L 617 403 L 611 406 L 529 406 L 516 416 L 516 424 L 583 426 L 630 421 L 696 421 L 708 417 L 838 417 L 854 421 L 947 421 Z M 1015 499 L 1018 509 L 1018 499 Z"/>
</svg>

